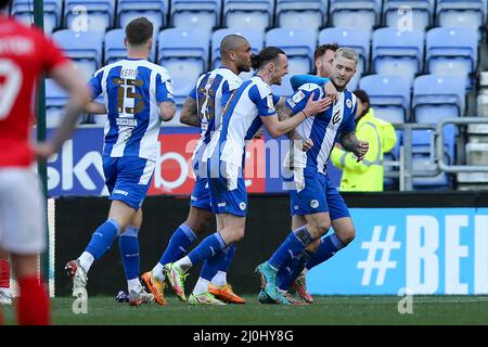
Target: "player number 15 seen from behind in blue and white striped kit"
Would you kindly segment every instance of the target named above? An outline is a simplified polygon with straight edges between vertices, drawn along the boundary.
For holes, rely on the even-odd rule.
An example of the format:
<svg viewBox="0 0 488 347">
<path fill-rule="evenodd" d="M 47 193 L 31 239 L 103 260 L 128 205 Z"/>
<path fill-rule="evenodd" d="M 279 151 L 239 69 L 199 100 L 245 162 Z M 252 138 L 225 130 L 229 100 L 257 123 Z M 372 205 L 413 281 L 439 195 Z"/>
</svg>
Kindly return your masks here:
<svg viewBox="0 0 488 347">
<path fill-rule="evenodd" d="M 167 70 L 147 61 L 153 24 L 136 18 L 126 33 L 127 57 L 102 67 L 90 81 L 92 100 L 103 93 L 105 104 L 92 102 L 86 107 L 90 113 L 107 113 L 103 171 L 112 200 L 108 219 L 66 270 L 74 293 L 85 290 L 91 265 L 120 236 L 129 304 L 139 306 L 154 299 L 139 281 L 141 206 L 156 167 L 160 123 L 172 118 L 176 106 Z"/>
</svg>

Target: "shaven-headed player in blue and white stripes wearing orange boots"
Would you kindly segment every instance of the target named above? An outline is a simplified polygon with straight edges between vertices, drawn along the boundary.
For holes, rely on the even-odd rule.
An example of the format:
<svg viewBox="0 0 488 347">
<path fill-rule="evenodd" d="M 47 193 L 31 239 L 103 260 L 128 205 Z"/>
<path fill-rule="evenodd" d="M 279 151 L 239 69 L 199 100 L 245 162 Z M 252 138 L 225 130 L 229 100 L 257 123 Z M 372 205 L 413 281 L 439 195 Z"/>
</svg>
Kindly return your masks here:
<svg viewBox="0 0 488 347">
<path fill-rule="evenodd" d="M 202 131 L 192 156 L 196 179 L 188 218 L 172 233 L 158 264 L 152 271 L 142 275 L 159 305 L 166 304 L 164 266 L 180 259 L 197 235 L 205 231 L 205 226 L 213 217 L 206 162 L 203 160 L 203 156 L 213 133 L 220 126 L 222 110 L 232 92 L 242 85 L 237 75 L 251 70 L 251 44 L 242 36 L 226 36 L 220 42 L 220 56 L 221 66 L 200 76 L 195 88 L 187 98 L 180 115 L 181 123 L 200 127 Z M 245 303 L 227 282 L 227 270 L 234 252 L 235 246 L 231 247 L 227 254 L 204 262 L 200 279 L 190 297 L 191 304 Z"/>
</svg>

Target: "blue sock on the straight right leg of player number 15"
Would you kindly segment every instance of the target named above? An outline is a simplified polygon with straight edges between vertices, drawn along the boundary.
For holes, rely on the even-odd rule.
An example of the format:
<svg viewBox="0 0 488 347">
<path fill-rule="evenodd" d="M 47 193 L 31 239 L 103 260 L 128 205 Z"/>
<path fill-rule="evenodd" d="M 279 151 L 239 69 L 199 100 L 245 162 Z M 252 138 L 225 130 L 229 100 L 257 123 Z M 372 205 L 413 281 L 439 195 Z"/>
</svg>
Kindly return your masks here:
<svg viewBox="0 0 488 347">
<path fill-rule="evenodd" d="M 127 281 L 139 278 L 139 230 L 132 226 L 126 228 L 118 237 L 118 246 Z"/>
</svg>

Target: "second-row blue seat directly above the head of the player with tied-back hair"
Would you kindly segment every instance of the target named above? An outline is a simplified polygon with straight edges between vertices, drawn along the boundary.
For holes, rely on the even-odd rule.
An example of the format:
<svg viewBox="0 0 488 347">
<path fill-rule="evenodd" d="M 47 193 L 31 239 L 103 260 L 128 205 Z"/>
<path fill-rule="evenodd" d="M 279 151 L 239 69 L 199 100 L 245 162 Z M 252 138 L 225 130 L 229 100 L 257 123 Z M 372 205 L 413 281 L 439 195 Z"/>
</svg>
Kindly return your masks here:
<svg viewBox="0 0 488 347">
<path fill-rule="evenodd" d="M 288 57 L 290 75 L 307 74 L 313 68 L 317 34 L 311 29 L 275 28 L 266 33 L 266 46 L 281 48 Z"/>
</svg>

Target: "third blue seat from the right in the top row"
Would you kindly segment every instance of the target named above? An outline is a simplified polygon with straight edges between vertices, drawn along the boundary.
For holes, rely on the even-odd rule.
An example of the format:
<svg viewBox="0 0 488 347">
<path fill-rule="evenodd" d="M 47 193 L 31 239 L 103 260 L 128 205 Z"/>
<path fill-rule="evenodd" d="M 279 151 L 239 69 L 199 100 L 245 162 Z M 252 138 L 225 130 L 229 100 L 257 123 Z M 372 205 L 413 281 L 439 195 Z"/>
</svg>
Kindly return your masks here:
<svg viewBox="0 0 488 347">
<path fill-rule="evenodd" d="M 332 26 L 371 30 L 380 23 L 382 0 L 331 0 Z"/>
</svg>

